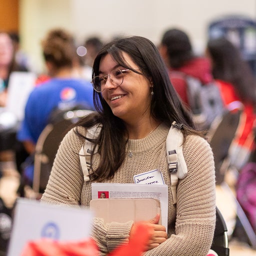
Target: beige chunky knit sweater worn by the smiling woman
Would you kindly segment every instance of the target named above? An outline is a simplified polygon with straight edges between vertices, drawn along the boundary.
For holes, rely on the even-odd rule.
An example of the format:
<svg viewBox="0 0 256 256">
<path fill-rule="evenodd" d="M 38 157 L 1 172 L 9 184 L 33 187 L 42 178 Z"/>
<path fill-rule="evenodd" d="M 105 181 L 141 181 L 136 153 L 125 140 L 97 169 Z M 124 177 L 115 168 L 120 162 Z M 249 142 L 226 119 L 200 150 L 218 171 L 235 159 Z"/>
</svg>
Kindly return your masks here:
<svg viewBox="0 0 256 256">
<path fill-rule="evenodd" d="M 160 124 L 143 139 L 129 140 L 125 157 L 114 177 L 105 182 L 133 183 L 133 175 L 158 168 L 165 183 L 170 184 L 167 171 L 165 139 L 169 128 Z M 79 131 L 86 133 L 84 128 Z M 70 130 L 61 142 L 49 181 L 41 201 L 55 204 L 89 206 L 91 183 L 83 183 L 79 169 L 79 150 L 83 140 Z M 144 253 L 146 256 L 205 256 L 210 248 L 215 226 L 215 175 L 213 155 L 209 144 L 201 137 L 189 135 L 183 144 L 187 176 L 177 185 L 177 203 L 168 195 L 168 239 Z M 93 167 L 98 164 L 96 157 Z M 153 185 L 153 184 L 152 184 Z M 106 255 L 128 240 L 132 221 L 103 224 L 95 218 L 92 237 L 97 241 L 100 255 Z"/>
</svg>

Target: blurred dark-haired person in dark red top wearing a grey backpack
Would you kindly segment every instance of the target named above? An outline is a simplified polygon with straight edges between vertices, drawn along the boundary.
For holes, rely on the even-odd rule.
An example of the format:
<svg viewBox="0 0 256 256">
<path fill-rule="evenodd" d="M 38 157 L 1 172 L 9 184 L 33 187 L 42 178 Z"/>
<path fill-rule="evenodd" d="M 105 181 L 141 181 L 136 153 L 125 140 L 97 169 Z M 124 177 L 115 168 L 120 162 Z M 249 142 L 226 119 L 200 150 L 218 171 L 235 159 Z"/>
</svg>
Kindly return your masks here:
<svg viewBox="0 0 256 256">
<path fill-rule="evenodd" d="M 188 35 L 177 28 L 166 30 L 158 47 L 167 65 L 169 77 L 175 90 L 188 104 L 185 75 L 198 78 L 202 84 L 212 81 L 210 62 L 204 56 L 196 56 Z"/>
</svg>

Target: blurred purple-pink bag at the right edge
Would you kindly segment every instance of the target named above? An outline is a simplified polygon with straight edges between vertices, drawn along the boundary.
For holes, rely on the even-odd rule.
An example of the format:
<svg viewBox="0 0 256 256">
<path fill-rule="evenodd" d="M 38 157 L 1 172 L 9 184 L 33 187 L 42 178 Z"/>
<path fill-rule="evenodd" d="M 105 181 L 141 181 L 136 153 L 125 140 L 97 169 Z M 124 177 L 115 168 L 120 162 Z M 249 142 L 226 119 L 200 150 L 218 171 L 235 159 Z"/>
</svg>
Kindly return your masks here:
<svg viewBox="0 0 256 256">
<path fill-rule="evenodd" d="M 240 170 L 236 197 L 256 233 L 256 162 L 248 162 Z"/>
</svg>

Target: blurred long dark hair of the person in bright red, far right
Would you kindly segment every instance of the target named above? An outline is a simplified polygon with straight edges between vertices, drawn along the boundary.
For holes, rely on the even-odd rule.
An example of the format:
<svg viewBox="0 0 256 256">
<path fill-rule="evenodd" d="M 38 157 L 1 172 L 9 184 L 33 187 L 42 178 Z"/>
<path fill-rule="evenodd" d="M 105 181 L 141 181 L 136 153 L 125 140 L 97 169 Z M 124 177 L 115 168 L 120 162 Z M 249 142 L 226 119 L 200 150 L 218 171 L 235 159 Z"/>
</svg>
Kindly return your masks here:
<svg viewBox="0 0 256 256">
<path fill-rule="evenodd" d="M 212 59 L 215 79 L 230 82 L 243 102 L 256 105 L 256 83 L 252 70 L 239 48 L 224 37 L 210 39 L 206 50 Z"/>
</svg>

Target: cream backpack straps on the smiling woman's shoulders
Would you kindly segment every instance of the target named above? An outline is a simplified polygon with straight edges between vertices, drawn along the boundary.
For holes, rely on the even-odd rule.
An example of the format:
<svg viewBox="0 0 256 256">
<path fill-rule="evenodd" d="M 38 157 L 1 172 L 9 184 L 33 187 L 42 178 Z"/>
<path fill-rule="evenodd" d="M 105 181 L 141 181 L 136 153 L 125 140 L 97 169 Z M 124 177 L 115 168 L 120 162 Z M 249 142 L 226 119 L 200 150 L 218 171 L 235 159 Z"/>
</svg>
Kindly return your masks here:
<svg viewBox="0 0 256 256">
<path fill-rule="evenodd" d="M 180 131 L 182 124 L 177 124 L 175 121 L 172 122 L 167 138 L 166 138 L 166 154 L 168 161 L 168 169 L 170 174 L 170 189 L 173 198 L 173 204 L 176 203 L 176 185 L 178 179 L 183 179 L 187 174 L 187 166 L 182 151 L 183 134 Z M 96 138 L 101 130 L 101 125 L 95 125 L 87 130 L 86 137 L 89 139 Z M 89 168 L 90 155 L 94 147 L 94 143 L 89 140 L 85 140 L 80 151 L 80 169 L 83 173 L 84 181 L 89 181 Z M 95 151 L 97 148 L 95 149 Z M 93 161 L 93 158 L 92 158 Z"/>
</svg>

